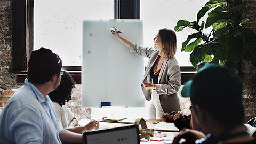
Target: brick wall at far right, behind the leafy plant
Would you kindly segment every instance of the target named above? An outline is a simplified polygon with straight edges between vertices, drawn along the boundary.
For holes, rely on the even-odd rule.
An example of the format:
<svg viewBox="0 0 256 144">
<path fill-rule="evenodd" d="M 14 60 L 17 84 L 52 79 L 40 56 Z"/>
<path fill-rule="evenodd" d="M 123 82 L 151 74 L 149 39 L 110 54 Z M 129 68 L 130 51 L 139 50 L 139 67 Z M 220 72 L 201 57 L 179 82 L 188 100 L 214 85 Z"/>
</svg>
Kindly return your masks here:
<svg viewBox="0 0 256 144">
<path fill-rule="evenodd" d="M 248 4 L 242 11 L 242 19 L 248 18 L 250 21 L 244 25 L 246 28 L 256 32 L 256 1 L 247 0 Z M 242 74 L 239 75 L 244 84 L 244 108 L 245 121 L 256 117 L 256 68 L 251 63 L 242 60 Z"/>
</svg>

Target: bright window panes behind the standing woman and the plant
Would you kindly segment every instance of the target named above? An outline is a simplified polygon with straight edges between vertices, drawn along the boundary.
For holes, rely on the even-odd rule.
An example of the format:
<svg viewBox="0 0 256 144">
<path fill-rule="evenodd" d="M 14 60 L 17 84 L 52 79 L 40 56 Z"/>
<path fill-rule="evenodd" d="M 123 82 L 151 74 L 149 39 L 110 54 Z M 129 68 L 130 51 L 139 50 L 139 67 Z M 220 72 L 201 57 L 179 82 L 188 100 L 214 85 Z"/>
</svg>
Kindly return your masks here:
<svg viewBox="0 0 256 144">
<path fill-rule="evenodd" d="M 206 0 L 141 0 L 140 19 L 144 22 L 144 45 L 152 47 L 153 38 L 161 28 L 170 28 L 174 30 L 180 19 L 194 21 L 197 12 L 205 5 Z M 204 20 L 206 22 L 206 19 Z M 195 31 L 185 28 L 181 32 L 176 32 L 177 36 L 177 54 L 179 66 L 192 67 L 189 61 L 188 52 L 181 52 L 181 43 L 185 42 L 188 35 Z"/>
</svg>

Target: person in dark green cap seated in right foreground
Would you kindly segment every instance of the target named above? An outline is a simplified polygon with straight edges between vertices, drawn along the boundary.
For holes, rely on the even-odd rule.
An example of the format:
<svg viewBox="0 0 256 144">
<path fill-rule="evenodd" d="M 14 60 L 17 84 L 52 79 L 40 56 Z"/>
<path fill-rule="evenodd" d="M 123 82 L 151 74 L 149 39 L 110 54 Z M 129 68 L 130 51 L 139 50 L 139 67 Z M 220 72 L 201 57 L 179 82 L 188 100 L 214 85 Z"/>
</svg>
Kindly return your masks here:
<svg viewBox="0 0 256 144">
<path fill-rule="evenodd" d="M 244 126 L 242 83 L 239 77 L 220 65 L 199 69 L 193 80 L 183 87 L 183 97 L 190 97 L 193 115 L 209 132 L 184 129 L 174 139 L 189 143 L 256 143 Z"/>
</svg>

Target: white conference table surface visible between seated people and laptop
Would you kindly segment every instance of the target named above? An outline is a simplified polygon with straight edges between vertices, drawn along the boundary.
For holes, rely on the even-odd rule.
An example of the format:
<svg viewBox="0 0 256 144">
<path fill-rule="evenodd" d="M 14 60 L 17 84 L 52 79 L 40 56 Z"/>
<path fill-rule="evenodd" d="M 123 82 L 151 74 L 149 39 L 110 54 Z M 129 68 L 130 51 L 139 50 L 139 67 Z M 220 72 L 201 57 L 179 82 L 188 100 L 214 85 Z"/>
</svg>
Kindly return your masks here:
<svg viewBox="0 0 256 144">
<path fill-rule="evenodd" d="M 80 125 L 84 125 L 86 123 L 88 123 L 90 120 L 89 119 L 81 119 L 81 121 L 79 121 L 79 124 Z M 146 125 L 149 129 L 154 129 L 155 125 L 156 124 L 153 124 L 152 122 L 161 122 L 162 120 L 161 119 L 147 119 L 146 120 Z M 100 128 L 99 129 L 111 129 L 111 128 L 115 128 L 115 127 L 122 127 L 122 126 L 128 126 L 128 125 L 131 125 L 131 124 L 124 124 L 124 123 L 113 123 L 113 122 L 103 122 L 103 121 L 100 121 Z M 175 135 L 177 135 L 179 132 L 170 132 L 170 131 L 155 131 L 155 134 L 156 133 L 160 133 L 160 134 L 163 134 L 163 135 L 166 135 L 164 137 L 165 140 L 173 140 L 173 138 L 175 137 Z M 160 143 L 164 143 L 166 141 L 141 141 L 140 143 L 141 144 L 160 144 Z"/>
</svg>

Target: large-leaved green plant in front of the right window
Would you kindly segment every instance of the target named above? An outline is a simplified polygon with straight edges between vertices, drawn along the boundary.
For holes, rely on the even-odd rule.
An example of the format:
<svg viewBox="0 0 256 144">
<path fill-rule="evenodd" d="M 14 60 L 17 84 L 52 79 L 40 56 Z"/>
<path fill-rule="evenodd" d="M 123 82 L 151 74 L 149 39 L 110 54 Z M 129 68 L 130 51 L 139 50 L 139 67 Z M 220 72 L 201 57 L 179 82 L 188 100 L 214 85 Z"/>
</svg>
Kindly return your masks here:
<svg viewBox="0 0 256 144">
<path fill-rule="evenodd" d="M 242 27 L 249 19 L 238 21 L 234 18 L 234 13 L 241 11 L 246 2 L 235 5 L 235 1 L 210 0 L 198 11 L 196 21 L 177 22 L 175 31 L 186 27 L 196 30 L 196 33 L 188 35 L 181 47 L 181 51 L 191 52 L 190 62 L 195 68 L 201 61 L 221 61 L 221 65 L 237 72 L 237 63 L 241 59 L 256 67 L 256 34 Z M 207 12 L 206 22 L 199 23 Z M 210 27 L 212 31 L 209 34 L 203 33 L 204 28 Z"/>
</svg>

